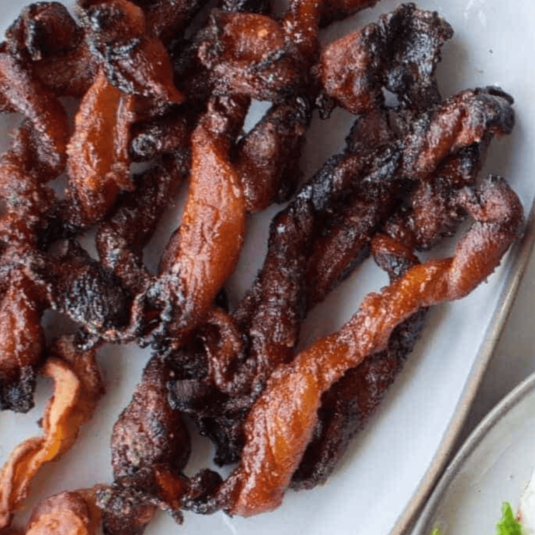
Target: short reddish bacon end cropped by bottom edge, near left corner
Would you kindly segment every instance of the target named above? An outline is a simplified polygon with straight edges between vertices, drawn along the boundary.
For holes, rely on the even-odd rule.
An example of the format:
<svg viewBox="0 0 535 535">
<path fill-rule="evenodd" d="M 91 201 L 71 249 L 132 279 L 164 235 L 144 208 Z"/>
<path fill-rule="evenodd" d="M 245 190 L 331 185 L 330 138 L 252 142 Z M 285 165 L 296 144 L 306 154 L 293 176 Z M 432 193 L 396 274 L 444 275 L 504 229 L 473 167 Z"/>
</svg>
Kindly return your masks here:
<svg viewBox="0 0 535 535">
<path fill-rule="evenodd" d="M 100 518 L 93 490 L 62 492 L 34 508 L 25 535 L 96 535 Z"/>
</svg>

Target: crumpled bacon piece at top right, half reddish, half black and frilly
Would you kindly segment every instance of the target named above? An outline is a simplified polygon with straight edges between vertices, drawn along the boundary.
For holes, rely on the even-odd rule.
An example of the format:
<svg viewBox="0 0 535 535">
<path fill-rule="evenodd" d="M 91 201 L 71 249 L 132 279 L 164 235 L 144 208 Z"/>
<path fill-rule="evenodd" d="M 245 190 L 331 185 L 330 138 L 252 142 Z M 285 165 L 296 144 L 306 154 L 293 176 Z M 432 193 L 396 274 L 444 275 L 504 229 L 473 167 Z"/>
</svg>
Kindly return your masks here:
<svg viewBox="0 0 535 535">
<path fill-rule="evenodd" d="M 434 71 L 453 30 L 437 13 L 403 4 L 377 24 L 329 44 L 318 68 L 325 91 L 358 115 L 380 106 L 383 88 L 422 111 L 440 102 Z"/>
</svg>

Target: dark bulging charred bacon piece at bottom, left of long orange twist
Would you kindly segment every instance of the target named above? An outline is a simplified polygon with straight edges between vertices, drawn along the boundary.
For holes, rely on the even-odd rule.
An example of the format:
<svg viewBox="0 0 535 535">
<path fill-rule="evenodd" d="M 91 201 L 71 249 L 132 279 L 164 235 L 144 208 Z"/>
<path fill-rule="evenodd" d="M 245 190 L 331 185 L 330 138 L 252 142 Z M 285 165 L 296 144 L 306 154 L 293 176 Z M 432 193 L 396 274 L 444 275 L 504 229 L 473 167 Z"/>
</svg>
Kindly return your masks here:
<svg viewBox="0 0 535 535">
<path fill-rule="evenodd" d="M 168 403 L 172 370 L 151 358 L 132 401 L 113 427 L 111 438 L 115 484 L 99 491 L 104 532 L 141 534 L 158 504 L 180 508 L 186 488 L 182 470 L 189 459 L 189 433 L 180 412 Z"/>
</svg>

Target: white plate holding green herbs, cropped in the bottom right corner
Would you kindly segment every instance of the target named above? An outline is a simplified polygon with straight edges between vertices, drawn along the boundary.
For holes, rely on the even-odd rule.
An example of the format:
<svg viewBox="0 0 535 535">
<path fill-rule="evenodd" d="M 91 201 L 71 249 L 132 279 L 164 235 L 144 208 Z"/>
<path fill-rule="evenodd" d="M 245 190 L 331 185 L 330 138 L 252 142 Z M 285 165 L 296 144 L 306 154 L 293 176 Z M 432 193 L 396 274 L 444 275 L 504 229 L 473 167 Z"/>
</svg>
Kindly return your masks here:
<svg viewBox="0 0 535 535">
<path fill-rule="evenodd" d="M 433 491 L 413 535 L 493 534 L 501 504 L 517 512 L 535 467 L 535 374 L 472 432 Z"/>
</svg>

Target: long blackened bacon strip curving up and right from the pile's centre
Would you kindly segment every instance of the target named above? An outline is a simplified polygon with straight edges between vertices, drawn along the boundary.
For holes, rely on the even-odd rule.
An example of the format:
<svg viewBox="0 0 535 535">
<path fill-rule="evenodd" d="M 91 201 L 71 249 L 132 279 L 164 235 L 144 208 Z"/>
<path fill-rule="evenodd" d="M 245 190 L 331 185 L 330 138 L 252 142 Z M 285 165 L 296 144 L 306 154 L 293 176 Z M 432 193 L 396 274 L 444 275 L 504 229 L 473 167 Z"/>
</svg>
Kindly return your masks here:
<svg viewBox="0 0 535 535">
<path fill-rule="evenodd" d="M 332 218 L 339 203 L 355 192 L 359 179 L 374 177 L 380 181 L 385 176 L 390 177 L 398 165 L 399 156 L 395 146 L 386 145 L 373 153 L 363 151 L 329 158 L 324 167 L 301 188 L 294 201 L 275 216 L 265 263 L 253 289 L 235 314 L 239 325 L 254 333 L 253 347 L 257 343 L 262 347 L 253 351 L 263 360 L 266 370 L 272 370 L 287 360 L 293 351 L 296 327 L 300 322 L 303 272 L 315 235 Z M 287 319 L 280 321 L 281 316 Z M 282 325 L 289 318 L 294 318 L 289 322 L 294 325 L 289 332 L 294 334 L 288 337 L 282 334 L 288 331 Z M 277 345 L 275 339 L 279 335 L 279 351 L 268 350 L 267 346 Z M 280 351 L 286 355 L 284 358 L 276 356 Z"/>
</svg>

